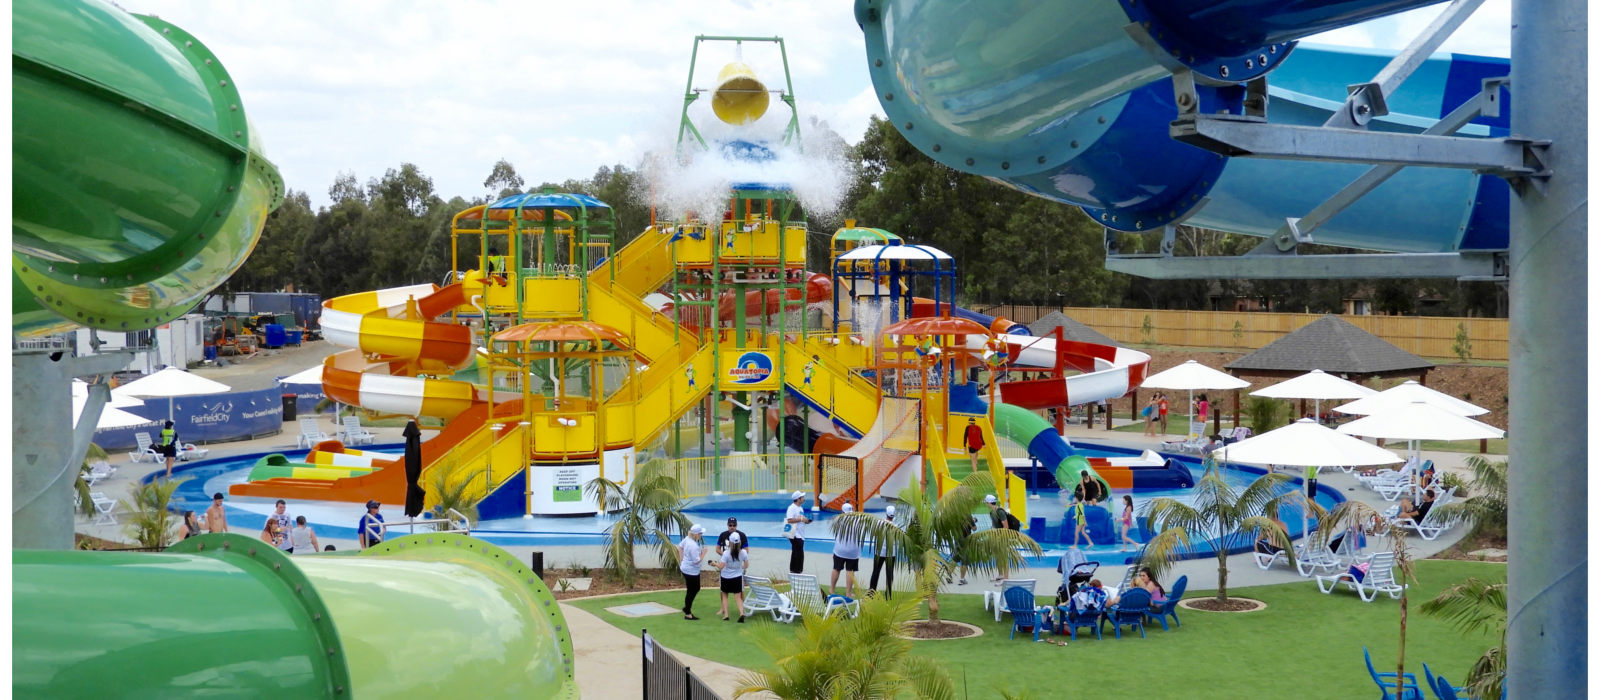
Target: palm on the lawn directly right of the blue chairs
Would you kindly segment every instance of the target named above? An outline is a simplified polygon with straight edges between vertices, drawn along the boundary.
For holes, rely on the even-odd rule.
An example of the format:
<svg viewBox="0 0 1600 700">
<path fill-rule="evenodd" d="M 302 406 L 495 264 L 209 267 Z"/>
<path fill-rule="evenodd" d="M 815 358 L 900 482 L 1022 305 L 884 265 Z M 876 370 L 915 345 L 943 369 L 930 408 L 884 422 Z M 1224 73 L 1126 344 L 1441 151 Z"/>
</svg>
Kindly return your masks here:
<svg viewBox="0 0 1600 700">
<path fill-rule="evenodd" d="M 1139 564 L 1157 577 L 1171 566 L 1190 542 L 1211 543 L 1216 553 L 1216 599 L 1227 603 L 1227 550 L 1235 542 L 1254 542 L 1266 537 L 1274 547 L 1283 548 L 1290 566 L 1294 566 L 1294 543 L 1277 523 L 1278 511 L 1290 503 L 1299 503 L 1317 518 L 1323 510 L 1299 491 L 1285 491 L 1288 475 L 1267 473 L 1235 492 L 1222 478 L 1216 462 L 1208 460 L 1205 475 L 1195 483 L 1194 505 L 1176 499 L 1154 499 L 1146 515 L 1158 534 L 1144 547 Z"/>
</svg>

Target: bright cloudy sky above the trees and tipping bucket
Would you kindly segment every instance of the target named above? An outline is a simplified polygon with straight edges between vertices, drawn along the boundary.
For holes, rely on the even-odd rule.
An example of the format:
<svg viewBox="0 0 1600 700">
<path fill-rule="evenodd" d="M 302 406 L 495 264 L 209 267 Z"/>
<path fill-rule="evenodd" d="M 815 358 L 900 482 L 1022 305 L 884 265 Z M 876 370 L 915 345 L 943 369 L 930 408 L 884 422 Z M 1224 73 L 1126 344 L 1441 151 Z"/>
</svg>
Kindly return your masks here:
<svg viewBox="0 0 1600 700">
<path fill-rule="evenodd" d="M 483 192 L 507 158 L 530 182 L 634 166 L 677 134 L 696 34 L 779 34 L 802 118 L 856 142 L 880 113 L 845 0 L 245 2 L 120 0 L 206 43 L 234 75 L 269 157 L 314 205 L 339 171 L 362 181 L 416 163 L 445 195 Z M 1437 8 L 1312 42 L 1400 48 Z M 1488 0 L 1445 50 L 1507 56 L 1510 0 Z M 733 59 L 706 45 L 696 86 Z M 771 45 L 746 62 L 776 86 Z M 704 101 L 702 101 L 704 102 Z"/>
</svg>

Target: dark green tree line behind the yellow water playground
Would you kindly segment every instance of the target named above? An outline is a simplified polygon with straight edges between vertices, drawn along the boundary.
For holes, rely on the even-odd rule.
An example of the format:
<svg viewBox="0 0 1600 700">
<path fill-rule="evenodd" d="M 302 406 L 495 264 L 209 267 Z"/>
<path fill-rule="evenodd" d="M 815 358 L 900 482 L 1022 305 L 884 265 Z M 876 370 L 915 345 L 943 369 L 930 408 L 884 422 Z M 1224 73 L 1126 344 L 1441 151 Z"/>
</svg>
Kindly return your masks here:
<svg viewBox="0 0 1600 700">
<path fill-rule="evenodd" d="M 822 270 L 827 237 L 846 219 L 886 229 L 907 241 L 955 257 L 958 302 L 1046 307 L 1213 308 L 1218 300 L 1253 299 L 1285 312 L 1344 310 L 1362 294 L 1374 313 L 1502 316 L 1506 291 L 1494 283 L 1454 280 L 1147 280 L 1106 270 L 1106 233 L 1077 206 L 1030 197 L 981 176 L 949 169 L 912 147 L 888 121 L 872 118 L 850 147 L 826 123 L 813 121 L 810 142 L 838 145 L 854 181 L 838 211 L 810 216 L 811 261 Z M 643 160 L 643 158 L 640 158 Z M 341 173 L 330 205 L 312 208 L 291 189 L 266 222 L 254 253 L 218 291 L 296 291 L 323 297 L 416 283 L 442 283 L 450 272 L 450 219 L 470 206 L 517 192 L 581 192 L 618 217 L 618 245 L 650 224 L 650 189 L 638 165 L 610 165 L 584 179 L 528 187 L 512 163 L 490 168 L 483 190 L 438 193 L 416 165 L 402 163 L 360 182 Z M 1176 254 L 1242 254 L 1259 238 L 1181 227 Z M 1154 253 L 1160 232 L 1122 233 L 1123 253 Z M 1328 251 L 1334 251 L 1328 248 Z M 464 241 L 462 256 L 477 256 Z M 1424 307 L 1426 304 L 1426 307 Z M 1232 308 L 1230 305 L 1226 308 Z"/>
</svg>

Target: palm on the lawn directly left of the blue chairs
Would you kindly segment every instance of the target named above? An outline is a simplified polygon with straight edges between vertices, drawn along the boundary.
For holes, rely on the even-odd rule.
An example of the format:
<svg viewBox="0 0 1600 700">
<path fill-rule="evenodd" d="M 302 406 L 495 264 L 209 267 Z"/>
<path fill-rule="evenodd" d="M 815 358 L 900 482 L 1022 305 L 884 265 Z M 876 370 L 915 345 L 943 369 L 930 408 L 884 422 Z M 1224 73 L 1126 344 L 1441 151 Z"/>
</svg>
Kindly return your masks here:
<svg viewBox="0 0 1600 700">
<path fill-rule="evenodd" d="M 906 529 L 867 513 L 843 513 L 832 519 L 834 537 L 872 542 L 874 551 L 893 556 L 910 567 L 917 590 L 928 603 L 928 620 L 939 623 L 939 591 L 960 559 L 979 575 L 992 571 L 1019 569 L 1027 559 L 1018 548 L 1040 555 L 1034 539 L 1008 529 L 986 529 L 966 534 L 973 511 L 986 494 L 994 492 L 994 479 L 984 471 L 968 475 L 958 486 L 931 502 L 915 484 L 899 494 Z M 946 556 L 949 553 L 950 556 Z"/>
</svg>

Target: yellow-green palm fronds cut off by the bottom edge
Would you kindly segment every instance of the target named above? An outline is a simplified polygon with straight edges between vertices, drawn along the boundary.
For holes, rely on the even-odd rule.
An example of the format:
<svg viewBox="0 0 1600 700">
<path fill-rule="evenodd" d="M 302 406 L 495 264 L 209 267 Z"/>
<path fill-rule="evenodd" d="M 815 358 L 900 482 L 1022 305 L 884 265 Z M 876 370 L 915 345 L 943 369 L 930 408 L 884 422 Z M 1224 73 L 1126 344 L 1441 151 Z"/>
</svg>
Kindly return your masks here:
<svg viewBox="0 0 1600 700">
<path fill-rule="evenodd" d="M 773 663 L 744 673 L 733 697 L 954 700 L 955 684 L 944 668 L 910 654 L 907 634 L 920 606 L 915 595 L 869 598 L 854 618 L 806 611 L 798 628 L 768 625 L 755 633 L 755 644 Z"/>
</svg>

